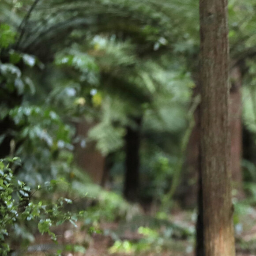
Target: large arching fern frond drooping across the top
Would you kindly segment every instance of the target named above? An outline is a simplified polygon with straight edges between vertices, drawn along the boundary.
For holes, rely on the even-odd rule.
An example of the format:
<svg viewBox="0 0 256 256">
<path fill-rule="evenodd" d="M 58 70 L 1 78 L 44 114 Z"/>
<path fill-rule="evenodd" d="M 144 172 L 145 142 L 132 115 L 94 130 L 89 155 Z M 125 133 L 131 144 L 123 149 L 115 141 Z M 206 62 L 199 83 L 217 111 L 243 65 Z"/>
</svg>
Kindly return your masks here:
<svg viewBox="0 0 256 256">
<path fill-rule="evenodd" d="M 191 22 L 182 21 L 181 12 L 184 11 Z M 139 51 L 143 54 L 149 49 L 158 49 L 159 45 L 186 41 L 186 24 L 193 23 L 190 29 L 193 34 L 195 22 L 197 12 L 193 1 L 181 8 L 178 1 L 41 0 L 31 14 L 20 47 L 32 54 L 47 48 L 51 54 L 50 49 L 64 43 L 72 31 L 83 30 L 85 34 L 107 33 L 117 34 L 122 39 L 130 38 L 140 42 Z"/>
</svg>

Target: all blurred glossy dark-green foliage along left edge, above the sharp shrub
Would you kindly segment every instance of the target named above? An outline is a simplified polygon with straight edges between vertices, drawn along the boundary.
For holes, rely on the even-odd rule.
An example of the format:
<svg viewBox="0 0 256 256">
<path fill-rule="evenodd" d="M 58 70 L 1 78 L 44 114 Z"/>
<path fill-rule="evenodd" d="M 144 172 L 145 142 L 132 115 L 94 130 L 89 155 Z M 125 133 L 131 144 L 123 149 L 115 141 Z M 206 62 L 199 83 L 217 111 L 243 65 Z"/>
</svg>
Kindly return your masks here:
<svg viewBox="0 0 256 256">
<path fill-rule="evenodd" d="M 8 50 L 7 56 L 10 63 L 0 63 L 0 122 L 3 127 L 7 124 L 9 127 L 0 135 L 0 143 L 11 138 L 11 150 L 6 150 L 6 155 L 15 152 L 21 158 L 23 165 L 14 171 L 19 179 L 35 188 L 56 178 L 60 170 L 64 171 L 63 175 L 69 175 L 68 152 L 73 150 L 73 133 L 52 106 L 29 101 L 31 94 L 37 97 L 38 93 L 30 76 L 25 75 L 26 68 L 30 72 L 40 68 L 38 59 L 13 49 Z M 25 71 L 18 65 L 24 65 Z"/>
</svg>

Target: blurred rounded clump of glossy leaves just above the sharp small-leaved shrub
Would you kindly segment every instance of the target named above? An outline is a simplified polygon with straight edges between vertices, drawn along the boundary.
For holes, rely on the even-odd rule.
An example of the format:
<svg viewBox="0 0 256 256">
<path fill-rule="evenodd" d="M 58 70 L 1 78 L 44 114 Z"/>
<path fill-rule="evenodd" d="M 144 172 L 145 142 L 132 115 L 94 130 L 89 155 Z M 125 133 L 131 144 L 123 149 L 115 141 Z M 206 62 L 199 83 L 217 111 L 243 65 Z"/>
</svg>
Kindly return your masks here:
<svg viewBox="0 0 256 256">
<path fill-rule="evenodd" d="M 62 161 L 68 160 L 61 152 L 73 150 L 70 127 L 52 109 L 39 106 L 16 107 L 8 117 L 21 127 L 10 131 L 18 145 L 15 154 L 23 162 L 18 177 L 33 187 L 56 178 Z"/>
</svg>

